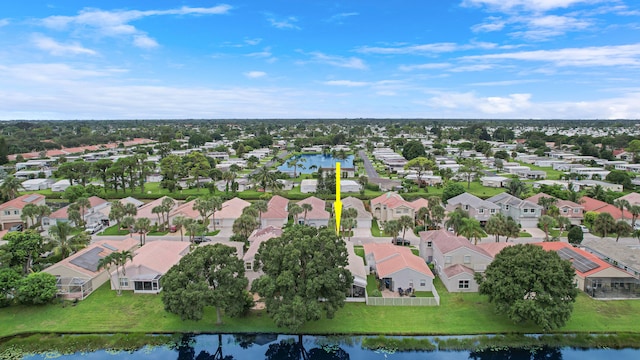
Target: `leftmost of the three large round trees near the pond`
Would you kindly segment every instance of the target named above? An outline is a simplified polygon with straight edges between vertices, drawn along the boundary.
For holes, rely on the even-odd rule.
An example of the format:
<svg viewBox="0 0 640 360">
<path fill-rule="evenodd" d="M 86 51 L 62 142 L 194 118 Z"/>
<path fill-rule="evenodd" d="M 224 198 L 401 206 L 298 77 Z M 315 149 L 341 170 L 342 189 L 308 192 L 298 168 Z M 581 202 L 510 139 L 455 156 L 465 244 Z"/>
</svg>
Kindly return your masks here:
<svg viewBox="0 0 640 360">
<path fill-rule="evenodd" d="M 222 244 L 201 246 L 185 255 L 161 279 L 165 310 L 183 320 L 200 320 L 206 306 L 216 309 L 217 324 L 222 313 L 237 316 L 251 306 L 244 276 L 244 263 L 235 248 Z"/>
</svg>

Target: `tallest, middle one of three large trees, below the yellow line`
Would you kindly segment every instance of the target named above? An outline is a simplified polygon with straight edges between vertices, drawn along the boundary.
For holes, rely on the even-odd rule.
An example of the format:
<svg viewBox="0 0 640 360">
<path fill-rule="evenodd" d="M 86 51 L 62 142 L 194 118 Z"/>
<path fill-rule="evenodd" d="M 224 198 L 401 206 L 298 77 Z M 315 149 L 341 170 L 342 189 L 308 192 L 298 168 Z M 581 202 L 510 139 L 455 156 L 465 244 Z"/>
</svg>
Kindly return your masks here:
<svg viewBox="0 0 640 360">
<path fill-rule="evenodd" d="M 277 326 L 297 331 L 323 313 L 333 318 L 344 306 L 353 283 L 347 265 L 345 243 L 333 229 L 294 225 L 260 245 L 255 268 L 264 275 L 252 290 Z"/>
</svg>

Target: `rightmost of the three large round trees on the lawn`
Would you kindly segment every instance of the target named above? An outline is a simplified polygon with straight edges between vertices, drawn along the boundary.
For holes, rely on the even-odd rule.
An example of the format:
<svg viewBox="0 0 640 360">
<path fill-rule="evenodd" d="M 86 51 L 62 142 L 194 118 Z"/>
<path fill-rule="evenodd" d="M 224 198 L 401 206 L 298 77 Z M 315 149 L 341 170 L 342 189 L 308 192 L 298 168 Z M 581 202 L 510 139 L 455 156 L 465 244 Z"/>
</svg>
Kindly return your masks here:
<svg viewBox="0 0 640 360">
<path fill-rule="evenodd" d="M 543 331 L 564 326 L 578 290 L 571 263 L 554 251 L 525 244 L 503 249 L 484 273 L 476 273 L 482 295 L 515 323 L 532 321 Z"/>
</svg>

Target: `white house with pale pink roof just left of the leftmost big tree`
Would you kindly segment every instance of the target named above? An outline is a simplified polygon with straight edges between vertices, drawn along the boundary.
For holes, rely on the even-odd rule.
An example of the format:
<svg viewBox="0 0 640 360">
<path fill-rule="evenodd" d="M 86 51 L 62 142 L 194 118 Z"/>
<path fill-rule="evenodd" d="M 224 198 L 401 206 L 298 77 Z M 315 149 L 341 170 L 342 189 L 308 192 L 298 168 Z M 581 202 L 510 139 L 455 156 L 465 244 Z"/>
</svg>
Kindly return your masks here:
<svg viewBox="0 0 640 360">
<path fill-rule="evenodd" d="M 169 269 L 189 253 L 188 241 L 158 240 L 144 244 L 126 263 L 124 271 L 111 271 L 111 290 L 133 290 L 136 294 L 162 291 L 161 279 Z"/>
</svg>

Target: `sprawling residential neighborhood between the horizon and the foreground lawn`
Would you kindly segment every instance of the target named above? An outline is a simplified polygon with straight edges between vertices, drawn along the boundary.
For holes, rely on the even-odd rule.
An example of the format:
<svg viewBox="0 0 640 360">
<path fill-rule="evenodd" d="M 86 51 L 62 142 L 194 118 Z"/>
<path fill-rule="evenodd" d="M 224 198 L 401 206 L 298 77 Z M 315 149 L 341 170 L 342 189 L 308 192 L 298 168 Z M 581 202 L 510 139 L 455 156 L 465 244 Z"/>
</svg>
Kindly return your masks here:
<svg viewBox="0 0 640 360">
<path fill-rule="evenodd" d="M 534 248 L 593 301 L 640 298 L 638 124 L 125 125 L 83 124 L 69 144 L 34 131 L 60 124 L 2 125 L 24 134 L 0 139 L 0 269 L 16 284 L 50 275 L 49 300 L 102 286 L 170 299 L 197 283 L 176 269 L 217 259 L 268 309 L 274 271 L 299 256 L 296 281 L 317 266 L 341 303 L 439 306 L 443 292 L 489 294 L 492 267 Z M 20 288 L 2 303 L 45 296 Z"/>
</svg>

